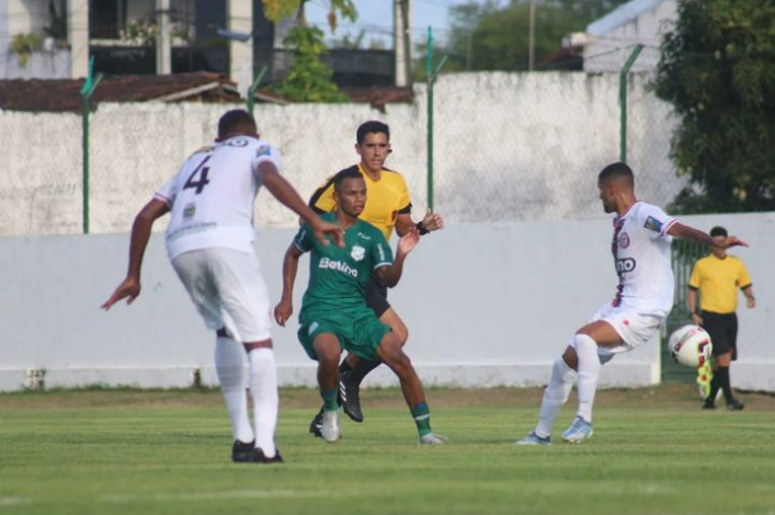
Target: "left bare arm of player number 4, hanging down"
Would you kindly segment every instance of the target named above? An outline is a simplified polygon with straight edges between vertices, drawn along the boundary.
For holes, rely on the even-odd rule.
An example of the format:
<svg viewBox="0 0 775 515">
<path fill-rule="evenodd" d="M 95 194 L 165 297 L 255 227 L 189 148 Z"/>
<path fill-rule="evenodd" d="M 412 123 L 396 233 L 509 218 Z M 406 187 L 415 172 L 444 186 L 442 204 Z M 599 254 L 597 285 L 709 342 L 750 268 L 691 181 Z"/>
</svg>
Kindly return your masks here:
<svg viewBox="0 0 775 515">
<path fill-rule="evenodd" d="M 126 298 L 129 305 L 140 295 L 140 271 L 143 268 L 143 258 L 148 247 L 150 232 L 153 222 L 170 211 L 170 206 L 158 198 L 153 198 L 140 209 L 132 225 L 132 238 L 129 244 L 129 268 L 126 278 L 113 291 L 113 295 L 102 305 L 102 309 L 107 311 L 111 306 L 118 300 Z"/>
</svg>

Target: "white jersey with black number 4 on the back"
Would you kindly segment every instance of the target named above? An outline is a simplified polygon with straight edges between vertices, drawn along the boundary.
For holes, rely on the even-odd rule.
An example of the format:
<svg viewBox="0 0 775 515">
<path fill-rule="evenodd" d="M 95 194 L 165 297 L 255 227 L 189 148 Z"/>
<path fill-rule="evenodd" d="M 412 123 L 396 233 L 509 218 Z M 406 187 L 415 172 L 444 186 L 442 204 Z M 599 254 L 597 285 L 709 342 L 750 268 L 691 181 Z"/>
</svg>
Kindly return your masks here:
<svg viewBox="0 0 775 515">
<path fill-rule="evenodd" d="M 280 170 L 266 141 L 236 136 L 195 152 L 155 198 L 170 206 L 170 259 L 197 249 L 253 252 L 253 204 L 261 187 L 259 164 Z"/>
</svg>

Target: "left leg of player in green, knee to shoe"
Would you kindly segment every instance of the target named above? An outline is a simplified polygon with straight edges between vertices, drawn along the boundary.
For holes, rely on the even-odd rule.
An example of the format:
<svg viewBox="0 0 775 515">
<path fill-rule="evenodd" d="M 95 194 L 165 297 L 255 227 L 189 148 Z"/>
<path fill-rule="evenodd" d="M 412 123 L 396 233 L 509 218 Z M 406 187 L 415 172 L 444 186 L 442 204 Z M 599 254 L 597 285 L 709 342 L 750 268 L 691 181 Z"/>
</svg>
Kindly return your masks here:
<svg viewBox="0 0 775 515">
<path fill-rule="evenodd" d="M 318 356 L 318 385 L 320 387 L 320 397 L 323 400 L 323 408 L 320 413 L 320 437 L 329 444 L 333 444 L 340 437 L 338 397 L 341 346 L 339 339 L 332 333 L 318 334 L 315 336 L 312 345 Z"/>
</svg>

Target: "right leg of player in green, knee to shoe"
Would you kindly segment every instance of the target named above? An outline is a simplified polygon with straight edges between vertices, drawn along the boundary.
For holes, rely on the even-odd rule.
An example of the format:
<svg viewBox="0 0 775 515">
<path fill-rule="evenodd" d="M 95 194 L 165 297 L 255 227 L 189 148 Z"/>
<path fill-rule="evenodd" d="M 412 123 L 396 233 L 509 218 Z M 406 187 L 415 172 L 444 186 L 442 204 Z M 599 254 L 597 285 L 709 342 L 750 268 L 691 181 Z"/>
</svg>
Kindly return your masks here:
<svg viewBox="0 0 775 515">
<path fill-rule="evenodd" d="M 426 445 L 444 444 L 446 437 L 438 435 L 431 428 L 431 409 L 425 402 L 425 392 L 422 382 L 414 371 L 409 356 L 401 350 L 401 344 L 392 332 L 385 334 L 377 347 L 377 355 L 401 381 L 403 399 L 417 424 L 420 443 Z"/>
</svg>

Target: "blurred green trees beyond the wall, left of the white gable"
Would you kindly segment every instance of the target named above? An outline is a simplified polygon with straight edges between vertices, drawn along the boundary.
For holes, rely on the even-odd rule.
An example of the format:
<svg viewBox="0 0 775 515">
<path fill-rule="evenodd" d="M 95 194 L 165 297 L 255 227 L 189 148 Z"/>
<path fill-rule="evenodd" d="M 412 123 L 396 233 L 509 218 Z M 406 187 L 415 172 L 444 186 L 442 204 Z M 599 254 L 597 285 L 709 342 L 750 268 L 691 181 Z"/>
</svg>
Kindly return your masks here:
<svg viewBox="0 0 775 515">
<path fill-rule="evenodd" d="M 586 25 L 627 0 L 536 0 L 535 62 L 561 48 L 562 37 L 585 32 Z M 452 8 L 445 71 L 525 70 L 529 56 L 529 0 L 469 1 Z M 581 60 L 563 62 L 580 67 Z"/>
</svg>

